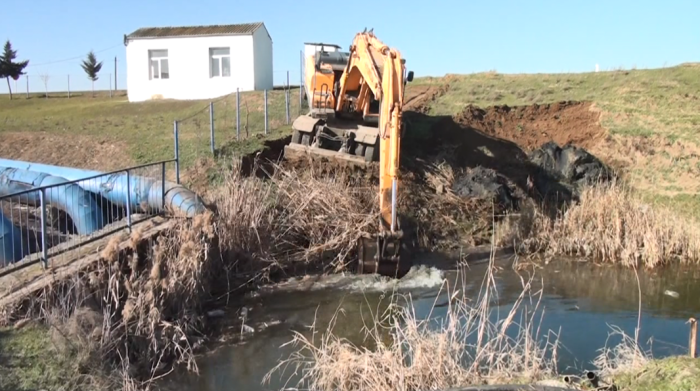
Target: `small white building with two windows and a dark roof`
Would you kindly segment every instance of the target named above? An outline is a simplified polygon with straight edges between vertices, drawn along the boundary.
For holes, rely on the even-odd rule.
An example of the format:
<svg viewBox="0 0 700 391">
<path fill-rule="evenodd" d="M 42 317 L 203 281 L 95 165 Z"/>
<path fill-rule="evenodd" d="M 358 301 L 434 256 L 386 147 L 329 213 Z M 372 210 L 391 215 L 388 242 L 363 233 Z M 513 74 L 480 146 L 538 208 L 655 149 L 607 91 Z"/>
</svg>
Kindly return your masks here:
<svg viewBox="0 0 700 391">
<path fill-rule="evenodd" d="M 140 28 L 124 36 L 130 102 L 272 89 L 264 23 Z"/>
</svg>

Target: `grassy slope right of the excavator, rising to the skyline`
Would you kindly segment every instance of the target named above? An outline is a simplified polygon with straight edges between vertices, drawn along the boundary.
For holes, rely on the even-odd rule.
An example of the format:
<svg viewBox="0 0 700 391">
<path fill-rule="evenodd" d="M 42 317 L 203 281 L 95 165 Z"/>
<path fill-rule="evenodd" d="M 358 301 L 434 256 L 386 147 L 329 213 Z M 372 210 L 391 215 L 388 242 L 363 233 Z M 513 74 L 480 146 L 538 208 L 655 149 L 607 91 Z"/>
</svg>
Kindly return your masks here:
<svg viewBox="0 0 700 391">
<path fill-rule="evenodd" d="M 431 114 L 456 114 L 469 103 L 595 102 L 609 137 L 592 152 L 624 167 L 649 200 L 700 216 L 700 64 L 579 74 L 449 75 L 414 84 L 445 82 L 450 89 L 432 103 Z"/>
</svg>

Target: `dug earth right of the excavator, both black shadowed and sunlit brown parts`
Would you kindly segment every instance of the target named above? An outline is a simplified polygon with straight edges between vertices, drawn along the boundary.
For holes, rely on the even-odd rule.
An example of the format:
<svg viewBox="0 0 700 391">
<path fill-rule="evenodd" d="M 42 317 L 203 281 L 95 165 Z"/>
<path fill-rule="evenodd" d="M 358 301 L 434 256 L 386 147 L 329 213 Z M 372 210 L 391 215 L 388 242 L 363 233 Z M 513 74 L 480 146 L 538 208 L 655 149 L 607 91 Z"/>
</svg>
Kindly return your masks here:
<svg viewBox="0 0 700 391">
<path fill-rule="evenodd" d="M 589 102 L 486 109 L 469 105 L 455 116 L 406 114 L 412 132 L 403 144 L 402 167 L 410 169 L 416 157 L 444 160 L 457 169 L 483 167 L 505 177 L 520 194 L 534 195 L 535 177 L 550 185 L 550 195 L 570 193 L 558 177 L 530 159 L 530 152 L 548 142 L 590 148 L 605 135 Z"/>
</svg>

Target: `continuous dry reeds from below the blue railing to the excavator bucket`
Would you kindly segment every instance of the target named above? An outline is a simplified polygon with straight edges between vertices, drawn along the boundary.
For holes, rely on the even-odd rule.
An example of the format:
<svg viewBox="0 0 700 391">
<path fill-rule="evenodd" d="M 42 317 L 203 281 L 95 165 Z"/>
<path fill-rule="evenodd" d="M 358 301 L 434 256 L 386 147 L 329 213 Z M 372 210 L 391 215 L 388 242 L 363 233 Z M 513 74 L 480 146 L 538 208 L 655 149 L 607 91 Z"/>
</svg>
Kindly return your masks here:
<svg viewBox="0 0 700 391">
<path fill-rule="evenodd" d="M 275 168 L 260 180 L 236 165 L 209 195 L 215 213 L 179 219 L 155 242 L 138 230 L 115 238 L 94 269 L 27 298 L 8 316 L 43 320 L 75 345 L 74 389 L 97 387 L 95 379 L 108 379 L 107 388 L 147 388 L 176 364 L 197 372 L 193 344 L 206 333 L 204 303 L 297 264 L 343 268 L 359 236 L 376 229 L 372 188 L 348 174 Z M 85 314 L 92 322 L 83 332 L 74 325 Z"/>
</svg>

